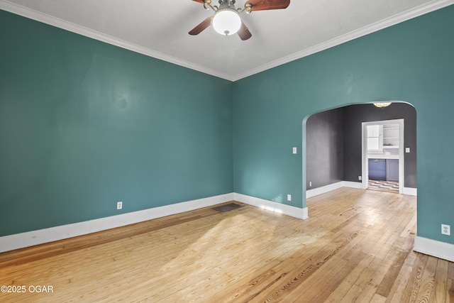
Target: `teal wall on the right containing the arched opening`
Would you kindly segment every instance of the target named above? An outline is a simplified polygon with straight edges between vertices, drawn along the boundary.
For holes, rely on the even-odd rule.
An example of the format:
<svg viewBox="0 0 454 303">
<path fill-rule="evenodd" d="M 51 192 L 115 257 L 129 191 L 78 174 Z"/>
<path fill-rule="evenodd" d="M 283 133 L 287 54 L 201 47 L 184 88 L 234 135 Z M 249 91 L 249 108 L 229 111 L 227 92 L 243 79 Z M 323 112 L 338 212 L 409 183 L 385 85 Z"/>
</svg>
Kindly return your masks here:
<svg viewBox="0 0 454 303">
<path fill-rule="evenodd" d="M 454 243 L 441 235 L 441 224 L 454 226 L 453 28 L 448 6 L 235 82 L 235 192 L 306 206 L 304 119 L 347 104 L 406 101 L 417 114 L 418 235 Z"/>
</svg>

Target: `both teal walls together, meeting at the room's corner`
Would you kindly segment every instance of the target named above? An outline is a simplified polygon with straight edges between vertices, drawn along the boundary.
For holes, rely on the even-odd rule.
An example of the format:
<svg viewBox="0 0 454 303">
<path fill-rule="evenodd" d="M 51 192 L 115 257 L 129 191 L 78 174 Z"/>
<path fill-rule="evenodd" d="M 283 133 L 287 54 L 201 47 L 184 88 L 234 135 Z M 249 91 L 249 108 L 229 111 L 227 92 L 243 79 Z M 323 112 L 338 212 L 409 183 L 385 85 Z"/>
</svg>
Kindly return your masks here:
<svg viewBox="0 0 454 303">
<path fill-rule="evenodd" d="M 233 191 L 304 207 L 304 119 L 401 100 L 418 234 L 454 243 L 453 28 L 449 6 L 231 83 L 0 11 L 0 236 Z"/>
</svg>

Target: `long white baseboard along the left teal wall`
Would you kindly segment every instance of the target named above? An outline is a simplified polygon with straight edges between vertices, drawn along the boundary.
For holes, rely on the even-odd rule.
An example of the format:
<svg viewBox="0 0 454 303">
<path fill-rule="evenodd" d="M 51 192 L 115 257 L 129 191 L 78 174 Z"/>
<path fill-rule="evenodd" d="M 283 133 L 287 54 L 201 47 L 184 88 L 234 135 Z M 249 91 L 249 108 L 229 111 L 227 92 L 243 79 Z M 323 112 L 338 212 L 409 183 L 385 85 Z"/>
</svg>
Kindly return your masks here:
<svg viewBox="0 0 454 303">
<path fill-rule="evenodd" d="M 196 199 L 187 202 L 170 204 L 165 206 L 154 207 L 152 209 L 143 209 L 116 216 L 94 219 L 89 221 L 55 226 L 50 228 L 38 229 L 36 231 L 27 231 L 25 233 L 16 233 L 9 236 L 0 237 L 0 253 L 35 246 L 38 244 L 58 241 L 65 238 L 86 235 L 87 233 L 96 233 L 110 228 L 135 224 L 141 221 L 179 214 L 184 211 L 192 211 L 203 207 L 213 206 L 233 200 L 233 193 L 221 194 L 214 197 Z"/>
</svg>

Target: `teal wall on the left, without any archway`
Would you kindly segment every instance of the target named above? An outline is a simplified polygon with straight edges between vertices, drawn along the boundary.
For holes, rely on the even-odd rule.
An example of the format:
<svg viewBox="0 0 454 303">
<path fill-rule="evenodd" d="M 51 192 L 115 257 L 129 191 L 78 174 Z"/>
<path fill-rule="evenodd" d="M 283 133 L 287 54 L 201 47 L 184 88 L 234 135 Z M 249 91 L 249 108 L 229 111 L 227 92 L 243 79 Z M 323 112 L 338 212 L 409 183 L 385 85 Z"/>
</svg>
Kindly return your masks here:
<svg viewBox="0 0 454 303">
<path fill-rule="evenodd" d="M 0 41 L 0 236 L 233 192 L 232 82 L 5 11 Z"/>
</svg>

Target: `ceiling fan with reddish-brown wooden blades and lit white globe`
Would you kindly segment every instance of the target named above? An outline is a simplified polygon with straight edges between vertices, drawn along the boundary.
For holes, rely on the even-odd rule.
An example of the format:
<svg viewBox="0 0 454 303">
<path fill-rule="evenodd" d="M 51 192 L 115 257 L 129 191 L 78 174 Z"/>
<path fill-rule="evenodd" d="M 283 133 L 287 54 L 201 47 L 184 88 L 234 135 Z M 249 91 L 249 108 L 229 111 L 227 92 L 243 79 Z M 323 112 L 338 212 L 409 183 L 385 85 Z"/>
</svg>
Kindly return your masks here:
<svg viewBox="0 0 454 303">
<path fill-rule="evenodd" d="M 265 11 L 269 9 L 286 9 L 290 0 L 248 0 L 244 4 L 244 9 L 236 9 L 236 0 L 219 0 L 219 6 L 211 5 L 211 0 L 192 0 L 204 4 L 204 9 L 212 9 L 214 16 L 201 21 L 198 26 L 189 31 L 189 35 L 199 35 L 210 25 L 221 35 L 233 35 L 238 33 L 241 40 L 248 40 L 252 37 L 249 29 L 241 21 L 240 13 L 245 11 Z"/>
</svg>

